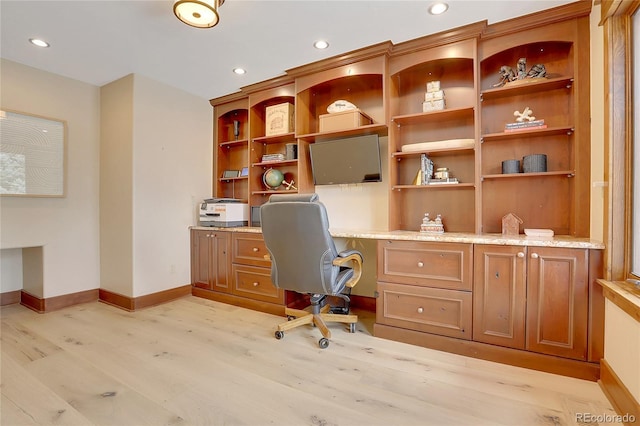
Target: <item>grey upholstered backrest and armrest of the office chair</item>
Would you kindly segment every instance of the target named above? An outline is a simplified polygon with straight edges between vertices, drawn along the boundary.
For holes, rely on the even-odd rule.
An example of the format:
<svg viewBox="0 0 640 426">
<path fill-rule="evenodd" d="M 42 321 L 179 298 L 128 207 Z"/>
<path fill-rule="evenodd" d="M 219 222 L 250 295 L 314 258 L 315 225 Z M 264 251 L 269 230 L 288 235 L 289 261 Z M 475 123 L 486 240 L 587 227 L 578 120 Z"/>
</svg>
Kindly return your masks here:
<svg viewBox="0 0 640 426">
<path fill-rule="evenodd" d="M 317 194 L 274 194 L 262 205 L 260 217 L 276 287 L 299 293 L 342 293 L 353 270 L 333 265 L 339 254 Z"/>
</svg>

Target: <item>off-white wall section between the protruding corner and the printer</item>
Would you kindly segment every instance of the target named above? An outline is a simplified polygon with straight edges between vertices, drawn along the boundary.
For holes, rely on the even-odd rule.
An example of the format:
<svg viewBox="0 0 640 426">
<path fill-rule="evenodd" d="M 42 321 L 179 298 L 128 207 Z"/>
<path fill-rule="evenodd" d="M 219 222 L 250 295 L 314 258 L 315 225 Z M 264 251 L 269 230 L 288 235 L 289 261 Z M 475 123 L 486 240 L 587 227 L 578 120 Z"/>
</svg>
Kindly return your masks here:
<svg viewBox="0 0 640 426">
<path fill-rule="evenodd" d="M 212 195 L 213 108 L 134 76 L 133 296 L 191 283 L 189 226 Z"/>
</svg>

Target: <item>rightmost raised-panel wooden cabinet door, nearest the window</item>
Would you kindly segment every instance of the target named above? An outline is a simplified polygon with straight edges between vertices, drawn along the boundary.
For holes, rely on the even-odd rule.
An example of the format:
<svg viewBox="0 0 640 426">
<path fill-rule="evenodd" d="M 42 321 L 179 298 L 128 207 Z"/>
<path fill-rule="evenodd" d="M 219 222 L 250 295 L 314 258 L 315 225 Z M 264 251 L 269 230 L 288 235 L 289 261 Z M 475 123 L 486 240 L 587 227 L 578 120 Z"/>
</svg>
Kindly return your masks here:
<svg viewBox="0 0 640 426">
<path fill-rule="evenodd" d="M 530 247 L 527 349 L 586 360 L 588 251 Z"/>
</svg>

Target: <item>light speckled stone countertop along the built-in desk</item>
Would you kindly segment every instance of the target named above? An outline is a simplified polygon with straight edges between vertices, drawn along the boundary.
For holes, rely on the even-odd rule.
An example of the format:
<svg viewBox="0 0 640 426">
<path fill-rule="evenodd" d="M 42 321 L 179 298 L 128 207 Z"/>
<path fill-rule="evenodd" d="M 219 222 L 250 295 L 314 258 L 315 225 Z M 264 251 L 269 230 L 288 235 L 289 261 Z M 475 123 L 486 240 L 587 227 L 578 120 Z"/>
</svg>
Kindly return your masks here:
<svg viewBox="0 0 640 426">
<path fill-rule="evenodd" d="M 216 230 L 227 232 L 252 232 L 261 233 L 260 227 L 238 226 L 234 228 L 192 226 L 191 229 Z M 521 235 L 501 234 L 471 234 L 462 232 L 445 232 L 444 234 L 427 234 L 418 231 L 372 231 L 357 229 L 329 229 L 335 238 L 362 238 L 372 240 L 399 240 L 399 241 L 433 241 L 444 243 L 468 243 L 468 244 L 495 244 L 503 246 L 530 246 L 530 247 L 565 247 L 602 250 L 604 243 L 588 238 L 575 238 L 566 235 L 556 235 L 552 238 L 538 238 Z"/>
</svg>

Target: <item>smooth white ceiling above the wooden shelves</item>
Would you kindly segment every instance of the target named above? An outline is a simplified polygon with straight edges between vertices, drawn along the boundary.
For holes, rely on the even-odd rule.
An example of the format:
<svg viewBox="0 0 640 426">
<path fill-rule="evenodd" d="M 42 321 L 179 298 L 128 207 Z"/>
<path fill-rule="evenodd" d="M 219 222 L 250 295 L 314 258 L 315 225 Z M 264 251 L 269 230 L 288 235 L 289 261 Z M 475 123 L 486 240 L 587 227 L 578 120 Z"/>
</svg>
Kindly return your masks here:
<svg viewBox="0 0 640 426">
<path fill-rule="evenodd" d="M 226 0 L 220 23 L 189 27 L 173 1 L 0 0 L 0 56 L 97 86 L 131 73 L 212 99 L 285 70 L 383 41 L 399 43 L 571 1 Z M 51 47 L 37 48 L 29 38 Z M 312 44 L 326 39 L 330 46 Z M 232 70 L 242 67 L 245 75 Z"/>
</svg>

